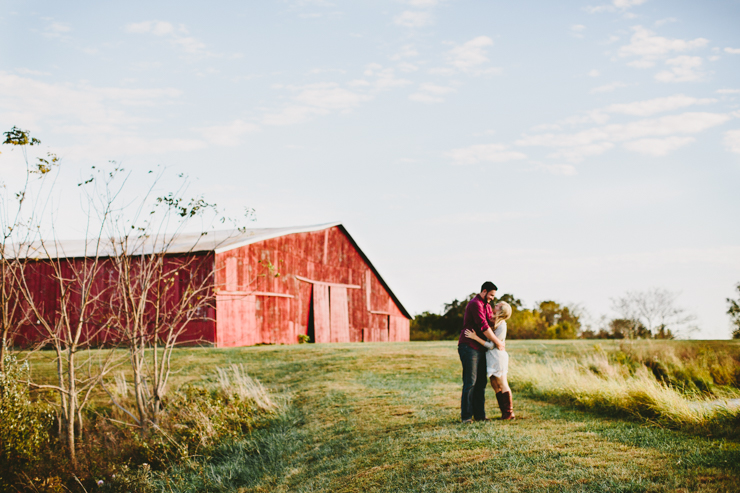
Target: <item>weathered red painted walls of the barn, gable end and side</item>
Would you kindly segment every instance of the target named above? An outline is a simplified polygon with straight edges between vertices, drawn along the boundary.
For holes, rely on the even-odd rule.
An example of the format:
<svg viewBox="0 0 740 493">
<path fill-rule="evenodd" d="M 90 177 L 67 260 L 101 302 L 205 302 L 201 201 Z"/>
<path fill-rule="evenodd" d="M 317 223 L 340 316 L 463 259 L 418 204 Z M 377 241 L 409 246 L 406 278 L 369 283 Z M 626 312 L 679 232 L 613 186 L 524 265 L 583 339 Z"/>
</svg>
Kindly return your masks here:
<svg viewBox="0 0 740 493">
<path fill-rule="evenodd" d="M 91 259 L 56 260 L 73 277 Z M 100 302 L 87 314 L 87 330 L 98 330 L 111 303 L 115 282 L 108 259 L 99 264 L 94 290 Z M 312 342 L 408 341 L 409 315 L 364 254 L 340 226 L 286 234 L 223 252 L 168 256 L 186 267 L 175 283 L 172 303 L 182 299 L 190 279 L 211 278 L 215 301 L 187 325 L 181 341 L 218 347 L 295 344 L 299 335 Z M 59 284 L 50 261 L 29 262 L 26 279 L 38 306 L 53 318 Z M 78 294 L 73 294 L 78 296 Z M 101 333 L 99 342 L 110 337 Z M 39 340 L 35 321 L 26 324 L 16 343 Z"/>
</svg>

